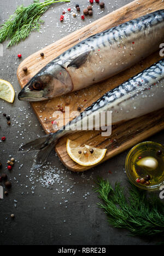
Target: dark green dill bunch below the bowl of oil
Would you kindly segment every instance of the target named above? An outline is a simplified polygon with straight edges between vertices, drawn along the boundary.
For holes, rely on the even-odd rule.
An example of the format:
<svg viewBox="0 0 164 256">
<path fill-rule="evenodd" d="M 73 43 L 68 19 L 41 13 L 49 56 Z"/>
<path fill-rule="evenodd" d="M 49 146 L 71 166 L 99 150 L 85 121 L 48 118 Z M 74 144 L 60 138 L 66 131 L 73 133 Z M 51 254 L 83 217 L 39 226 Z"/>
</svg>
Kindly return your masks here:
<svg viewBox="0 0 164 256">
<path fill-rule="evenodd" d="M 131 184 L 128 197 L 119 183 L 113 189 L 109 181 L 98 179 L 96 192 L 104 203 L 98 203 L 107 214 L 108 222 L 114 228 L 127 229 L 131 236 L 153 236 L 164 234 L 164 205 L 157 198 L 147 196 Z"/>
</svg>

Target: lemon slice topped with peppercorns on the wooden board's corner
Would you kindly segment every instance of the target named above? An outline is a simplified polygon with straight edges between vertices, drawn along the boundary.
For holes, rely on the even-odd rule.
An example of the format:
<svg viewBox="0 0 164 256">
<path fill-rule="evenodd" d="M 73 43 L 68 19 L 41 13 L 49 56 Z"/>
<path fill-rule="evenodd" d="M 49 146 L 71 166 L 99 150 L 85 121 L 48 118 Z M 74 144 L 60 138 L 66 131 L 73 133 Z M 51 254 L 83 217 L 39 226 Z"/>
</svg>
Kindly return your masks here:
<svg viewBox="0 0 164 256">
<path fill-rule="evenodd" d="M 67 139 L 67 153 L 79 165 L 96 165 L 104 158 L 106 152 L 107 149 L 93 148 L 88 145 L 80 147 L 71 139 Z"/>
</svg>

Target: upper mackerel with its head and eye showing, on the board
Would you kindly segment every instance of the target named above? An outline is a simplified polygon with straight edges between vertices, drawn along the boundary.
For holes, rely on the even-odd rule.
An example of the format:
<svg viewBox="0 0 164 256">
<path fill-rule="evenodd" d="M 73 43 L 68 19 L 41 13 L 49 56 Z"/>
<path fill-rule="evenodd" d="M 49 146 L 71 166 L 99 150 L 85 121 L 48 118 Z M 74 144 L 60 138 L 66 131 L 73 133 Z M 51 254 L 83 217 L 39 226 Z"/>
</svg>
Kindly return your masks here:
<svg viewBox="0 0 164 256">
<path fill-rule="evenodd" d="M 18 98 L 48 100 L 101 82 L 159 50 L 163 39 L 164 10 L 95 34 L 48 63 Z"/>
</svg>

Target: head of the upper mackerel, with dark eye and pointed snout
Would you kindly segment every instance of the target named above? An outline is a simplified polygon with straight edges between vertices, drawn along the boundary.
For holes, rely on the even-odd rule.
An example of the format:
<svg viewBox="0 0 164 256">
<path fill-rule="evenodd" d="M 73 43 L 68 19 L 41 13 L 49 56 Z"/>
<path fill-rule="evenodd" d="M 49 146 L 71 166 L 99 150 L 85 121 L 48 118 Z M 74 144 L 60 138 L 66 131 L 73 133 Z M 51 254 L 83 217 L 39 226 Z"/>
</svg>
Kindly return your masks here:
<svg viewBox="0 0 164 256">
<path fill-rule="evenodd" d="M 50 62 L 26 84 L 18 95 L 21 101 L 48 100 L 73 90 L 69 73 L 58 63 Z"/>
</svg>

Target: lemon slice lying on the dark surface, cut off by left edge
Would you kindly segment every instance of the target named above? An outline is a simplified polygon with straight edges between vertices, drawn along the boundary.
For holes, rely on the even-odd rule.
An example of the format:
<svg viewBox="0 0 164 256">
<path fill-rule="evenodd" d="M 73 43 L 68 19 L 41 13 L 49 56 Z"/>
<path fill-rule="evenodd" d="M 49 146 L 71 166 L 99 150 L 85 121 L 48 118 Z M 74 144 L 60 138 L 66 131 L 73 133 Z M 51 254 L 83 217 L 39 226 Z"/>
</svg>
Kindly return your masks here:
<svg viewBox="0 0 164 256">
<path fill-rule="evenodd" d="M 13 103 L 14 97 L 15 91 L 13 86 L 9 82 L 0 79 L 0 98 L 8 101 L 9 103 Z"/>
</svg>

